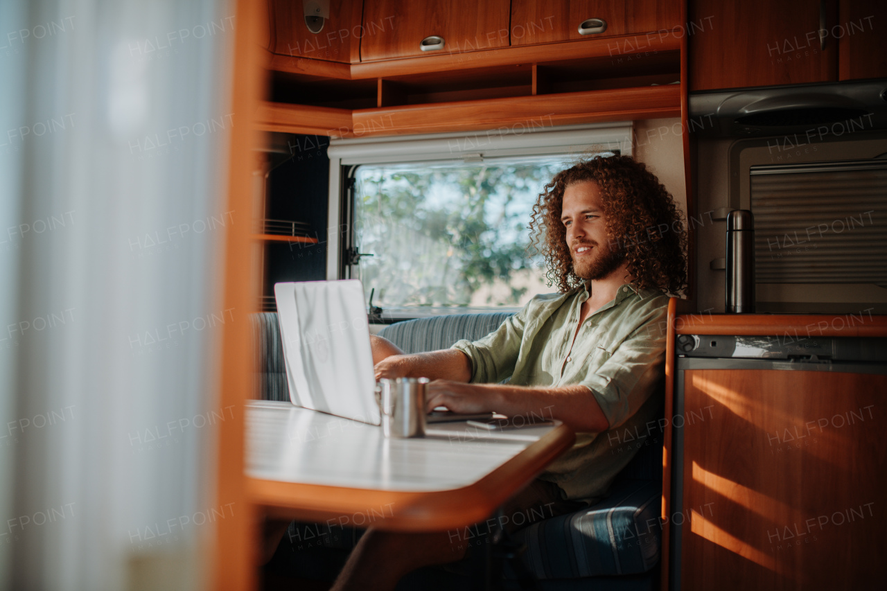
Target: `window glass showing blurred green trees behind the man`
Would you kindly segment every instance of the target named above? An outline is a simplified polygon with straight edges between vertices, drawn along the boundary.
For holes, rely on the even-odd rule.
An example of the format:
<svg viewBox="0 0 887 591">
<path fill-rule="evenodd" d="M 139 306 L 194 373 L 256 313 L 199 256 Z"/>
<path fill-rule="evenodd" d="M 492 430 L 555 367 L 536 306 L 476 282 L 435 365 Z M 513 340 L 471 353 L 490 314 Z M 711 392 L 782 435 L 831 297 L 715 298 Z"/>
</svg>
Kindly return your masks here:
<svg viewBox="0 0 887 591">
<path fill-rule="evenodd" d="M 355 174 L 359 278 L 385 311 L 519 307 L 553 291 L 528 228 L 569 157 L 365 165 Z M 533 256 L 535 254 L 535 256 Z M 413 312 L 416 312 L 415 310 Z"/>
</svg>

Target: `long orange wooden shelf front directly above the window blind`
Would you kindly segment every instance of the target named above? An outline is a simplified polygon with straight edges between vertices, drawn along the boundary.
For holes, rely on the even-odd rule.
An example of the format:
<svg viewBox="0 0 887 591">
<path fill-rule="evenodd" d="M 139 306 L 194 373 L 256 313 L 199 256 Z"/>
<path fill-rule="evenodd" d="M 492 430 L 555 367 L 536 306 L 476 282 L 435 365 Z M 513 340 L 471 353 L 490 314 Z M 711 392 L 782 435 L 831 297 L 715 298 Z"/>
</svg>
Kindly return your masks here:
<svg viewBox="0 0 887 591">
<path fill-rule="evenodd" d="M 675 117 L 678 85 L 570 92 L 459 103 L 356 109 L 349 137 L 443 131 L 546 128 L 587 122 Z"/>
</svg>

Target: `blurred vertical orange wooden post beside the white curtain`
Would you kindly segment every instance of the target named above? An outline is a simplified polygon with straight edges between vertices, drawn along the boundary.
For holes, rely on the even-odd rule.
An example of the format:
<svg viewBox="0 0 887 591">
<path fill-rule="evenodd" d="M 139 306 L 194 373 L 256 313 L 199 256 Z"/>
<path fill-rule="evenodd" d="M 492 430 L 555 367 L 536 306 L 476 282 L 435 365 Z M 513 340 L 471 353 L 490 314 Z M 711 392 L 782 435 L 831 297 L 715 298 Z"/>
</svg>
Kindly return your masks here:
<svg viewBox="0 0 887 591">
<path fill-rule="evenodd" d="M 244 414 L 242 409 L 253 389 L 255 344 L 248 313 L 257 296 L 259 273 L 256 250 L 249 236 L 253 227 L 250 212 L 255 208 L 253 171 L 256 167 L 253 148 L 259 144 L 253 126 L 253 115 L 259 104 L 266 52 L 257 43 L 262 23 L 267 19 L 263 3 L 236 3 L 237 28 L 232 55 L 232 111 L 238 124 L 232 127 L 228 141 L 227 162 L 228 211 L 245 218 L 225 230 L 224 285 L 222 298 L 226 310 L 232 310 L 236 321 L 224 325 L 217 364 L 218 398 L 213 406 L 235 409 L 231 419 L 219 422 L 206 445 L 216 446 L 215 503 L 231 503 L 232 515 L 219 519 L 212 538 L 211 567 L 207 572 L 209 587 L 217 590 L 255 589 L 255 564 L 258 562 L 258 532 L 255 528 L 255 507 L 247 498 L 244 470 Z M 207 393 L 210 399 L 216 394 Z"/>
</svg>

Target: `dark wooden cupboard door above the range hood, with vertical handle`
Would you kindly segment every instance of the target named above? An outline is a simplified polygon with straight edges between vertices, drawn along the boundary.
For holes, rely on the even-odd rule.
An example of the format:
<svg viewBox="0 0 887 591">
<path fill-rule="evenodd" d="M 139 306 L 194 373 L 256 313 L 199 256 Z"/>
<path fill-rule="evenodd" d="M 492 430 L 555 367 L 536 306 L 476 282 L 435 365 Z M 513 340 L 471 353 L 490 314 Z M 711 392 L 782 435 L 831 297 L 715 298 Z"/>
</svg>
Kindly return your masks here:
<svg viewBox="0 0 887 591">
<path fill-rule="evenodd" d="M 837 18 L 826 0 L 826 22 Z M 820 49 L 820 0 L 689 0 L 690 90 L 834 82 L 837 46 Z"/>
</svg>

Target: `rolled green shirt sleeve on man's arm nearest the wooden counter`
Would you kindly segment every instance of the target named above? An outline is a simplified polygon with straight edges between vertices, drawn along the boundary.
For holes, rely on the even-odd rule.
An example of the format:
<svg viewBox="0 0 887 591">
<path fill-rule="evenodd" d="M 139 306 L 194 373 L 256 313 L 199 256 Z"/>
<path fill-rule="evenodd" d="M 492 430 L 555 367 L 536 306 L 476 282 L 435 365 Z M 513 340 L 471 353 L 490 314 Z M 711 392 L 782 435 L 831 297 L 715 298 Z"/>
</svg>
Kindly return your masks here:
<svg viewBox="0 0 887 591">
<path fill-rule="evenodd" d="M 667 304 L 642 312 L 637 327 L 616 351 L 599 348 L 596 354 L 609 359 L 579 382 L 592 390 L 609 429 L 616 429 L 637 413 L 662 380 L 667 317 Z"/>
</svg>

